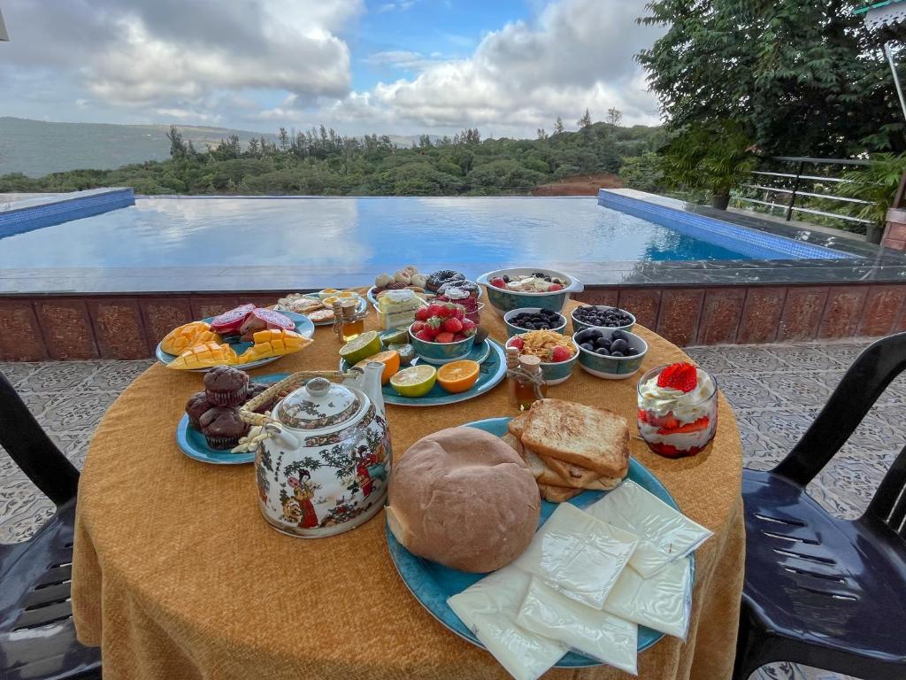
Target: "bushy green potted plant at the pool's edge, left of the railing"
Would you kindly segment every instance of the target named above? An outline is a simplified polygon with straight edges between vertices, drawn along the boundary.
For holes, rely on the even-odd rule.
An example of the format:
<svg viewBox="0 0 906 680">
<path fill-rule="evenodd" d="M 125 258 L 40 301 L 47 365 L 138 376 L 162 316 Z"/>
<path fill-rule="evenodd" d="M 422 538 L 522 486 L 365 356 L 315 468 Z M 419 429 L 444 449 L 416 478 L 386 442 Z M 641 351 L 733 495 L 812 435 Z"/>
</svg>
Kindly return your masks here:
<svg viewBox="0 0 906 680">
<path fill-rule="evenodd" d="M 755 168 L 755 146 L 743 127 L 728 120 L 695 123 L 662 150 L 664 172 L 673 187 L 704 189 L 711 206 L 726 210 L 730 189 Z"/>
</svg>

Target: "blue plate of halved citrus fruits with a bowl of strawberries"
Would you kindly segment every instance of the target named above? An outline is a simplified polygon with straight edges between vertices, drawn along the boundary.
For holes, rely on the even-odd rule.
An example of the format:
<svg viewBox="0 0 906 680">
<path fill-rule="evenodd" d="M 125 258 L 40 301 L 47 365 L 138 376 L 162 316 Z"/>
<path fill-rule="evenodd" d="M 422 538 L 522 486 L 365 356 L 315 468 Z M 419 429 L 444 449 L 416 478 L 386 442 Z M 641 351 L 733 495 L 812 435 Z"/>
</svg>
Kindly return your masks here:
<svg viewBox="0 0 906 680">
<path fill-rule="evenodd" d="M 434 305 L 419 310 L 425 320 L 416 321 L 409 329 L 392 329 L 381 335 L 368 331 L 343 345 L 340 370 L 371 361 L 384 364 L 384 401 L 402 406 L 462 402 L 499 384 L 506 376 L 503 347 L 485 337 L 477 340 L 477 329 L 463 316 L 461 306 L 444 307 L 448 316 L 443 319 L 428 316 L 430 307 Z M 445 331 L 444 325 L 455 330 Z M 432 339 L 420 339 L 429 337 Z"/>
</svg>

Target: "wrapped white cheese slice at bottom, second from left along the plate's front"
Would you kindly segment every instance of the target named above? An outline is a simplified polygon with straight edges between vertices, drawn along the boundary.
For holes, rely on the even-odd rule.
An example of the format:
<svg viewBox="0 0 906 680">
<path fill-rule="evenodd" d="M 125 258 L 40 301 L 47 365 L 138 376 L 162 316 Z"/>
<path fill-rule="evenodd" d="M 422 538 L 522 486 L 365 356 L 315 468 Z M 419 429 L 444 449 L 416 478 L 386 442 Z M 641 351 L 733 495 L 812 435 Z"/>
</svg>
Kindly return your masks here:
<svg viewBox="0 0 906 680">
<path fill-rule="evenodd" d="M 639 627 L 600 609 L 586 607 L 532 578 L 516 623 L 569 645 L 585 656 L 638 675 Z"/>
</svg>

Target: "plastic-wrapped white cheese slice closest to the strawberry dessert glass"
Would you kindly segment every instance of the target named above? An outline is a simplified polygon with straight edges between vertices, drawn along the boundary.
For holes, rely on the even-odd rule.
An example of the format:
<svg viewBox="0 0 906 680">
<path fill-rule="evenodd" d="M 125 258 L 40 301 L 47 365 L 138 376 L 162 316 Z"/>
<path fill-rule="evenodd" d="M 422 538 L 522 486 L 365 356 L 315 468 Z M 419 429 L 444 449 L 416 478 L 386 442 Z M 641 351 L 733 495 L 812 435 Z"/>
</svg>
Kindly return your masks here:
<svg viewBox="0 0 906 680">
<path fill-rule="evenodd" d="M 639 537 L 639 547 L 629 564 L 645 578 L 686 557 L 712 536 L 708 529 L 630 480 L 585 511 Z"/>
</svg>

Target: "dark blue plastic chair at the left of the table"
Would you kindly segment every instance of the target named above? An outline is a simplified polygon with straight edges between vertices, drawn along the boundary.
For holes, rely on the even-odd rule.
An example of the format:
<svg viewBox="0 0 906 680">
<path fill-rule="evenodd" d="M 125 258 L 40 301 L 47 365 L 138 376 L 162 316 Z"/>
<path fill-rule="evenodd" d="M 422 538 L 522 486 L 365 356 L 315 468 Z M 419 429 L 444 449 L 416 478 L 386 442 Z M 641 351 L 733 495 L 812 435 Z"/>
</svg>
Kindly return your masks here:
<svg viewBox="0 0 906 680">
<path fill-rule="evenodd" d="M 72 527 L 79 471 L 0 374 L 0 445 L 57 511 L 32 539 L 0 544 L 0 680 L 100 678 L 101 652 L 72 623 Z"/>
</svg>

